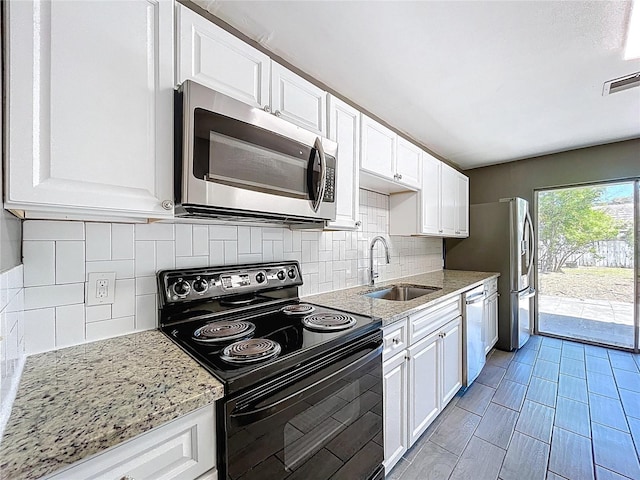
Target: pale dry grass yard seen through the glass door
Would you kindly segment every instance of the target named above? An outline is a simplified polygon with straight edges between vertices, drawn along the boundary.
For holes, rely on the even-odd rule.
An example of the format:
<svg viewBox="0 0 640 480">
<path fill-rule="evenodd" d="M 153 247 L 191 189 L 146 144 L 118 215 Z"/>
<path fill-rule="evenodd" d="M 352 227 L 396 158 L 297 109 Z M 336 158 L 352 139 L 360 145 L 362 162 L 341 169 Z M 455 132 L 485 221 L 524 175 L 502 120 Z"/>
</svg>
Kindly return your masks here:
<svg viewBox="0 0 640 480">
<path fill-rule="evenodd" d="M 580 267 L 539 273 L 541 295 L 633 303 L 633 268 Z"/>
</svg>

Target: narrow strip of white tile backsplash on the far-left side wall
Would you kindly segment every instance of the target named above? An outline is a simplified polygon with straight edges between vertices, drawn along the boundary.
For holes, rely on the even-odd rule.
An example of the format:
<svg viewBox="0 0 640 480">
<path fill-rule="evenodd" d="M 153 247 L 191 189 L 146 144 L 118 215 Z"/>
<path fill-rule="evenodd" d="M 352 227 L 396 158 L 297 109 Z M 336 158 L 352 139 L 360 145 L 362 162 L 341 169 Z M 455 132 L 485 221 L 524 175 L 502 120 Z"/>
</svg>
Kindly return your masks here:
<svg viewBox="0 0 640 480">
<path fill-rule="evenodd" d="M 22 265 L 0 273 L 0 437 L 24 365 Z"/>
</svg>

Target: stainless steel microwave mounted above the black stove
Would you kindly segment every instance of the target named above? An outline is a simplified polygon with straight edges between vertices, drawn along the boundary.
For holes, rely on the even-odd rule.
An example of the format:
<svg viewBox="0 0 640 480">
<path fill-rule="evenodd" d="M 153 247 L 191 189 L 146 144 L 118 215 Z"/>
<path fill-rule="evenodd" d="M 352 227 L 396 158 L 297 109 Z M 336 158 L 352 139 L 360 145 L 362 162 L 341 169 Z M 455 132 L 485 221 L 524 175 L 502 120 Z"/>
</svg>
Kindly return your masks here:
<svg viewBox="0 0 640 480">
<path fill-rule="evenodd" d="M 190 80 L 175 111 L 177 216 L 335 219 L 335 142 Z"/>
</svg>

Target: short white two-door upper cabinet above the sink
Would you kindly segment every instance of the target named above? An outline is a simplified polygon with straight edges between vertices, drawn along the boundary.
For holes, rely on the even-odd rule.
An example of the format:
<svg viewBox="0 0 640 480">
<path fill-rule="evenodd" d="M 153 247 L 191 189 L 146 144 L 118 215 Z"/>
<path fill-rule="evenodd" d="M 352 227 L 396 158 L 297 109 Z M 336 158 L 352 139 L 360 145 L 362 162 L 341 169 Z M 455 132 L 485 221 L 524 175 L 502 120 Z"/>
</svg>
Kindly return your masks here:
<svg viewBox="0 0 640 480">
<path fill-rule="evenodd" d="M 375 120 L 362 115 L 360 183 L 381 193 L 420 188 L 421 150 Z"/>
</svg>

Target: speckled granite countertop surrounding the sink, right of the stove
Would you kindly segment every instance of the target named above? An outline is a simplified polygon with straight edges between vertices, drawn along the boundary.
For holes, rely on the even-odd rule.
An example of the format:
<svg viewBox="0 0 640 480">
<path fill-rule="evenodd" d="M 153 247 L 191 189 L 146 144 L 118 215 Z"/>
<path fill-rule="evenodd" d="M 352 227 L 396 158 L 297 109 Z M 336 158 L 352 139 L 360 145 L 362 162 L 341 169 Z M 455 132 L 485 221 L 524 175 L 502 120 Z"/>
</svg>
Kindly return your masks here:
<svg viewBox="0 0 640 480">
<path fill-rule="evenodd" d="M 467 272 L 462 270 L 438 270 L 436 272 L 422 273 L 410 277 L 396 278 L 394 280 L 376 283 L 375 287 L 359 286 L 334 292 L 309 295 L 304 301 L 323 305 L 325 307 L 346 310 L 361 315 L 371 315 L 382 318 L 382 326 L 390 325 L 407 315 L 422 310 L 440 300 L 459 295 L 465 290 L 470 290 L 490 278 L 497 278 L 500 274 L 493 272 Z M 362 295 L 386 285 L 411 284 L 439 287 L 438 290 L 423 295 L 413 300 L 398 302 L 381 298 L 370 298 Z"/>
</svg>

